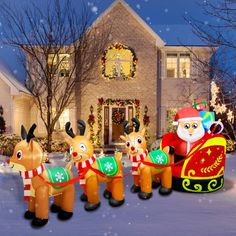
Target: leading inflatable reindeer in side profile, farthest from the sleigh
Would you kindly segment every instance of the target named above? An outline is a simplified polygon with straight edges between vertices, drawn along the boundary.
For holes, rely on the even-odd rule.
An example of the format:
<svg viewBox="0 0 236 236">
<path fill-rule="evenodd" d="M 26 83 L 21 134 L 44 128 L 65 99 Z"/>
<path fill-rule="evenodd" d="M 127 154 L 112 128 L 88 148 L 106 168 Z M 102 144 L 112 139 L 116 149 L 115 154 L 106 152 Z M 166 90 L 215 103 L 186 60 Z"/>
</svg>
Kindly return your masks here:
<svg viewBox="0 0 236 236">
<path fill-rule="evenodd" d="M 24 183 L 24 200 L 28 201 L 26 219 L 32 219 L 32 226 L 41 227 L 48 222 L 49 197 L 54 196 L 52 212 L 58 218 L 67 220 L 73 215 L 74 185 L 51 186 L 48 182 L 62 183 L 73 178 L 69 169 L 58 167 L 45 169 L 42 164 L 42 149 L 33 140 L 34 124 L 28 134 L 21 126 L 22 141 L 16 144 L 13 156 L 8 161 L 11 168 L 20 171 Z"/>
</svg>

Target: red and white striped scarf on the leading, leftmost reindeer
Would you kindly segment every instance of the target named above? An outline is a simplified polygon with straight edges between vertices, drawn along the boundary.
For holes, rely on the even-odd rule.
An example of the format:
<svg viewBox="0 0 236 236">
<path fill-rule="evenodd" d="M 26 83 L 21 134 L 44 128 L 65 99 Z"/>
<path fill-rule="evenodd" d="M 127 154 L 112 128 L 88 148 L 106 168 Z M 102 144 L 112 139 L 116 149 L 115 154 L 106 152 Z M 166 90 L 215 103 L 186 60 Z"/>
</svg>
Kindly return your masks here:
<svg viewBox="0 0 236 236">
<path fill-rule="evenodd" d="M 33 170 L 27 170 L 27 171 L 20 171 L 20 176 L 23 179 L 24 183 L 24 200 L 29 201 L 30 200 L 30 189 L 31 189 L 31 179 L 35 176 L 41 175 L 43 171 L 45 170 L 45 167 L 43 164 L 41 164 L 39 167 L 33 169 Z"/>
</svg>

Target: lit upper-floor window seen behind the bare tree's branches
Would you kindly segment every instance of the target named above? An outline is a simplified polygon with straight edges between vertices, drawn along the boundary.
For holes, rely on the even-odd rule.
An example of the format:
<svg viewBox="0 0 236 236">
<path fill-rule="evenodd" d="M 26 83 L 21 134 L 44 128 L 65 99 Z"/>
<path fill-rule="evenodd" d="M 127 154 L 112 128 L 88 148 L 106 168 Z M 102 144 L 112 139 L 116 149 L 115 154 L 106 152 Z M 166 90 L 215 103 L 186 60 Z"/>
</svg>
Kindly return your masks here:
<svg viewBox="0 0 236 236">
<path fill-rule="evenodd" d="M 70 74 L 70 55 L 66 53 L 49 54 L 48 55 L 48 67 L 50 73 L 58 75 L 60 77 L 66 77 Z"/>
</svg>

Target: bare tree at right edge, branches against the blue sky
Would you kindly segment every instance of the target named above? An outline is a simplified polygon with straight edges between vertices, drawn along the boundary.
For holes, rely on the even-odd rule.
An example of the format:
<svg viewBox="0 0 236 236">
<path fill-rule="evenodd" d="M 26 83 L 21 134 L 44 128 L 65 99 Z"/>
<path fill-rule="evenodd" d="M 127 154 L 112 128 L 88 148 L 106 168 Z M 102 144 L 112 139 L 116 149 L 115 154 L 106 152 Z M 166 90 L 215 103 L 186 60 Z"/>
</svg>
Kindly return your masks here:
<svg viewBox="0 0 236 236">
<path fill-rule="evenodd" d="M 200 6 L 209 20 L 189 17 L 186 21 L 191 25 L 193 33 L 212 50 L 212 58 L 205 61 L 195 57 L 195 61 L 202 66 L 203 71 L 208 71 L 211 79 L 218 85 L 220 91 L 216 104 L 218 108 L 219 104 L 226 106 L 228 113 L 219 113 L 216 107 L 212 108 L 224 122 L 228 136 L 235 140 L 236 65 L 232 62 L 236 59 L 236 1 L 204 1 Z M 229 111 L 233 114 L 231 119 Z"/>
</svg>

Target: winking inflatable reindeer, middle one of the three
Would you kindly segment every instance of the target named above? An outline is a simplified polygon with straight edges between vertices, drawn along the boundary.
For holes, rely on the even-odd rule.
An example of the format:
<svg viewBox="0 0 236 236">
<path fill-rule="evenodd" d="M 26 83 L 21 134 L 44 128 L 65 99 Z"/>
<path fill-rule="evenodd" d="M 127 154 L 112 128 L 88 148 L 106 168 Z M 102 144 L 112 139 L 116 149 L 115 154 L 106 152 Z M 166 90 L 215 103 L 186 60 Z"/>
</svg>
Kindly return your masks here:
<svg viewBox="0 0 236 236">
<path fill-rule="evenodd" d="M 78 120 L 80 135 L 75 135 L 70 122 L 65 125 L 69 137 L 66 142 L 70 145 L 70 153 L 78 174 L 82 175 L 80 185 L 84 193 L 80 199 L 85 201 L 86 211 L 93 211 L 100 206 L 99 183 L 106 183 L 104 197 L 109 199 L 113 207 L 124 203 L 124 186 L 122 173 L 122 153 L 115 153 L 115 157 L 96 158 L 94 148 L 89 140 L 89 135 L 84 136 L 86 125 L 84 121 Z"/>
</svg>

